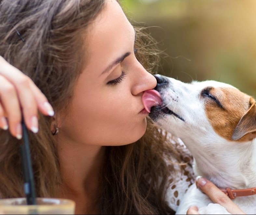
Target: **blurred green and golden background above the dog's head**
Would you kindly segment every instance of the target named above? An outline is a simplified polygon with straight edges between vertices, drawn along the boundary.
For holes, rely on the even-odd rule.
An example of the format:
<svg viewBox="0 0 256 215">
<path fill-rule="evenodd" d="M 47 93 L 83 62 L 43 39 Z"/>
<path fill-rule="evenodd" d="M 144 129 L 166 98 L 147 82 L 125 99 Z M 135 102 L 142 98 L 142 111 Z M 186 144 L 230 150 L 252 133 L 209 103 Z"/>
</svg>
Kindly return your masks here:
<svg viewBox="0 0 256 215">
<path fill-rule="evenodd" d="M 217 80 L 256 98 L 256 0 L 120 0 L 134 25 L 149 27 L 158 73 L 184 82 Z"/>
</svg>

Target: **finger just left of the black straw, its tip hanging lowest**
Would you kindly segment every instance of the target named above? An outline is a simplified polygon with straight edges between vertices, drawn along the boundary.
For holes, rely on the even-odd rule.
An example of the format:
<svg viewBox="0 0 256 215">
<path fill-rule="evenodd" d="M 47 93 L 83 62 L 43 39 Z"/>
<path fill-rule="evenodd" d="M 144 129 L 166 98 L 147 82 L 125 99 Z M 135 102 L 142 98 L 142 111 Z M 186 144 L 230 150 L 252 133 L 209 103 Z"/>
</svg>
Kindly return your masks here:
<svg viewBox="0 0 256 215">
<path fill-rule="evenodd" d="M 0 98 L 3 107 L 3 115 L 8 119 L 10 133 L 17 139 L 21 139 L 21 110 L 15 87 L 0 75 Z M 1 113 L 0 113 L 1 114 Z"/>
</svg>

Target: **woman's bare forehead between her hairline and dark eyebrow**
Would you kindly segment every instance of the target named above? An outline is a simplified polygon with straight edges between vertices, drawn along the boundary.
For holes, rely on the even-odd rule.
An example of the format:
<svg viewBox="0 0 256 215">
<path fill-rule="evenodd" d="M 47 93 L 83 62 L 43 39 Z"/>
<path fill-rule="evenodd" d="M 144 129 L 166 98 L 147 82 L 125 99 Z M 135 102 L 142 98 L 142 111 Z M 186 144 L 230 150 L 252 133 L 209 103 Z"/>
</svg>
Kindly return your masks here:
<svg viewBox="0 0 256 215">
<path fill-rule="evenodd" d="M 113 60 L 131 50 L 134 28 L 115 0 L 106 0 L 104 9 L 86 32 L 86 67 L 102 72 Z"/>
</svg>

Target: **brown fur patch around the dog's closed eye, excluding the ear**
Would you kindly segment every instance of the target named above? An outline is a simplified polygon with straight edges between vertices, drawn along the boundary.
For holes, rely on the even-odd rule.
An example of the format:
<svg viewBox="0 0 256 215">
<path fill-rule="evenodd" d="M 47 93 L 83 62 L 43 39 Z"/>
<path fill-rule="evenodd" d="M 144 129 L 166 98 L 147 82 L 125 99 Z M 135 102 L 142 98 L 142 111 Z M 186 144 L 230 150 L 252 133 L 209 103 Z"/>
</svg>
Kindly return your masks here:
<svg viewBox="0 0 256 215">
<path fill-rule="evenodd" d="M 211 94 L 220 101 L 223 108 L 212 100 L 206 100 L 205 112 L 209 122 L 219 136 L 234 141 L 232 139 L 233 132 L 242 116 L 249 110 L 250 96 L 231 87 L 214 88 L 211 90 Z M 247 141 L 250 138 L 249 135 L 246 134 L 237 141 Z"/>
</svg>

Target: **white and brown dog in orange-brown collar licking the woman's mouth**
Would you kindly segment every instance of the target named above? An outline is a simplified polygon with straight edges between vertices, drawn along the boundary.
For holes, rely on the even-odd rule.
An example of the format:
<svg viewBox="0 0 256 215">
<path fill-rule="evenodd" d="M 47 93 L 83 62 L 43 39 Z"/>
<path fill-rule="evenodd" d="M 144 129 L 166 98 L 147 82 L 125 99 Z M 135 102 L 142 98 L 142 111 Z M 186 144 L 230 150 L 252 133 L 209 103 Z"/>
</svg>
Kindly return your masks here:
<svg viewBox="0 0 256 215">
<path fill-rule="evenodd" d="M 246 214 L 256 214 L 255 100 L 217 81 L 155 78 L 155 89 L 142 96 L 149 117 L 184 142 L 193 155 L 195 175 L 212 181 Z M 190 206 L 200 214 L 230 214 L 211 202 L 193 184 L 176 214 L 186 214 Z"/>
</svg>

